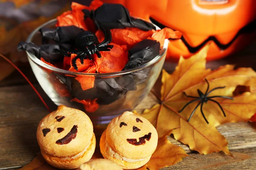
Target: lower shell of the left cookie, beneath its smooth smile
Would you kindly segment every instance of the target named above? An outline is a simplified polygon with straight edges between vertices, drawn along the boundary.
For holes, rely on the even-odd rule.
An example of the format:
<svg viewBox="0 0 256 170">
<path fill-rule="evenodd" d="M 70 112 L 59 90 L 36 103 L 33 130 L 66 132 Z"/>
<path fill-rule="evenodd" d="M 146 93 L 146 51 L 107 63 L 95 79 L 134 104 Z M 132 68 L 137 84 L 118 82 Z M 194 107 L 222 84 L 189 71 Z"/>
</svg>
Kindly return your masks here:
<svg viewBox="0 0 256 170">
<path fill-rule="evenodd" d="M 52 165 L 53 167 L 57 167 L 58 169 L 74 169 L 74 168 L 78 168 L 81 164 L 83 164 L 84 162 L 89 161 L 94 153 L 96 147 L 96 138 L 95 135 L 93 133 L 93 137 L 91 138 L 91 143 L 90 146 L 87 148 L 87 151 L 81 155 L 78 156 L 76 158 L 60 158 L 60 157 L 56 157 L 56 156 L 51 156 L 47 153 L 45 153 L 44 151 L 41 151 L 42 156 L 44 157 L 44 159 L 48 162 L 48 164 Z"/>
</svg>

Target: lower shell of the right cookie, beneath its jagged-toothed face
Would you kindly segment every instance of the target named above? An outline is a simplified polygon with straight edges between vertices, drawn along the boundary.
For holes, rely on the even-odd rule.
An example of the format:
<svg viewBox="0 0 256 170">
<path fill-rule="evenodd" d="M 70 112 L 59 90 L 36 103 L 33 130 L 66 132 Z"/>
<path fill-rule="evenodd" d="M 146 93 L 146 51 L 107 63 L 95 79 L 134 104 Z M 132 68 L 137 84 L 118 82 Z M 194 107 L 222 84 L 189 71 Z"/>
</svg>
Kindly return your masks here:
<svg viewBox="0 0 256 170">
<path fill-rule="evenodd" d="M 119 164 L 119 166 L 121 166 L 125 170 L 137 169 L 137 168 L 145 165 L 150 160 L 150 157 L 148 157 L 147 159 L 145 159 L 143 161 L 127 162 L 127 161 L 116 159 L 112 156 L 109 156 L 105 150 L 105 140 L 106 140 L 106 131 L 102 134 L 102 136 L 100 138 L 100 142 L 99 142 L 100 151 L 102 153 L 102 156 L 105 159 L 111 160 L 111 161 L 115 162 L 116 164 Z"/>
</svg>

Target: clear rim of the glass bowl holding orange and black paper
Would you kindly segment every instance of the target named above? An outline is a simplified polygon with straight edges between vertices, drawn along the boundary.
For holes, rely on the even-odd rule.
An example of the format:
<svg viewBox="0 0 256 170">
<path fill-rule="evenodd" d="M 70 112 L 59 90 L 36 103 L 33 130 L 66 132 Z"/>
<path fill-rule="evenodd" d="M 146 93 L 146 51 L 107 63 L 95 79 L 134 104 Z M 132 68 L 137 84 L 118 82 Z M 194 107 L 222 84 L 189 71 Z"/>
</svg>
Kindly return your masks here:
<svg viewBox="0 0 256 170">
<path fill-rule="evenodd" d="M 52 19 L 52 20 L 49 20 L 48 22 L 42 24 L 41 26 L 38 26 L 38 28 L 35 28 L 35 30 L 32 31 L 31 34 L 29 34 L 29 37 L 26 39 L 26 42 L 31 42 L 32 38 L 34 37 L 34 35 L 36 33 L 38 33 L 40 28 L 48 26 L 50 24 L 53 24 L 56 21 L 57 21 L 57 19 Z M 156 26 L 156 28 L 160 29 L 157 26 Z M 125 75 L 125 74 L 130 74 L 130 73 L 133 73 L 133 72 L 141 71 L 144 68 L 150 67 L 154 63 L 158 62 L 166 54 L 167 48 L 168 48 L 168 39 L 165 39 L 164 44 L 163 44 L 163 49 L 160 50 L 160 54 L 157 57 L 155 57 L 154 59 L 152 59 L 151 61 L 149 61 L 149 62 L 147 62 L 144 65 L 141 65 L 139 67 L 133 68 L 133 69 L 129 69 L 129 70 L 125 70 L 125 71 L 118 71 L 118 72 L 113 72 L 113 73 L 79 73 L 79 72 L 74 72 L 74 71 L 67 71 L 67 70 L 63 70 L 63 69 L 60 69 L 60 68 L 52 67 L 51 65 L 48 65 L 48 64 L 42 62 L 40 59 L 35 57 L 35 55 L 30 54 L 28 51 L 26 51 L 26 54 L 36 64 L 40 65 L 43 68 L 47 68 L 51 71 L 54 71 L 56 73 L 68 74 L 68 75 L 74 75 L 74 76 L 85 76 L 86 75 L 86 76 L 94 76 L 94 77 L 115 77 L 115 76 L 122 76 L 122 75 Z"/>
</svg>

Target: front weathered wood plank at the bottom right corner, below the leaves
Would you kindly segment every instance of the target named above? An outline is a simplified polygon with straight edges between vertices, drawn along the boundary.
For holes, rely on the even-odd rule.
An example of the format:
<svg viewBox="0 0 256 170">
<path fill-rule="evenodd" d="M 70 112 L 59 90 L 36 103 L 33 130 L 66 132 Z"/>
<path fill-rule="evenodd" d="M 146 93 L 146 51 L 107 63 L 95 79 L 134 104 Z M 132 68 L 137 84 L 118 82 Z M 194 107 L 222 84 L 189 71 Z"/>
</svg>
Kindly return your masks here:
<svg viewBox="0 0 256 170">
<path fill-rule="evenodd" d="M 224 153 L 189 154 L 177 164 L 161 170 L 255 170 L 256 147 L 233 150 L 234 158 Z"/>
</svg>

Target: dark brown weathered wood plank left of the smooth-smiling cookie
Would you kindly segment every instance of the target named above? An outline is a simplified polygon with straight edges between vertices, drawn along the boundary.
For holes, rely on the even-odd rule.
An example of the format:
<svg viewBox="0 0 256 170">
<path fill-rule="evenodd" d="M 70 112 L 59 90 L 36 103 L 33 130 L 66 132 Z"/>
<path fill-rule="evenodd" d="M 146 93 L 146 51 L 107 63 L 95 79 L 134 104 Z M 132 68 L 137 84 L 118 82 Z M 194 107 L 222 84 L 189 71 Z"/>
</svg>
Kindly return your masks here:
<svg viewBox="0 0 256 170">
<path fill-rule="evenodd" d="M 36 88 L 56 109 L 39 85 Z M 23 166 L 39 151 L 36 129 L 48 113 L 29 85 L 0 88 L 0 168 Z"/>
</svg>

